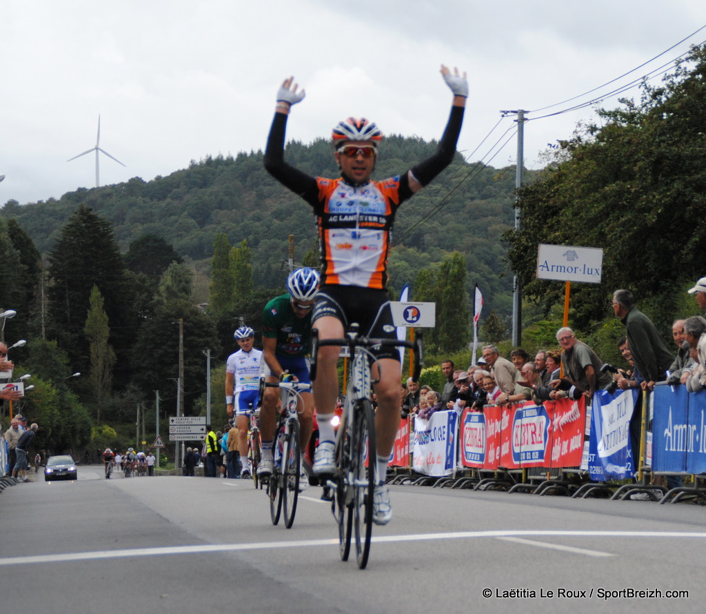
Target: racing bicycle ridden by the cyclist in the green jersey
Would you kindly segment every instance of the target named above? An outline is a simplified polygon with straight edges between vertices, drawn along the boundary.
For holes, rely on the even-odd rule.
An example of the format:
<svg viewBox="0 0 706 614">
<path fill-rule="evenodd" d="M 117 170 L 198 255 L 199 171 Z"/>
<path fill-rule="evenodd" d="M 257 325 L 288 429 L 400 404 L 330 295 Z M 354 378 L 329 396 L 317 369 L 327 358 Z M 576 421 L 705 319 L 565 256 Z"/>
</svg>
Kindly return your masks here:
<svg viewBox="0 0 706 614">
<path fill-rule="evenodd" d="M 279 388 L 281 406 L 273 437 L 273 471 L 268 479 L 267 494 L 270 499 L 272 524 L 278 524 L 284 509 L 285 526 L 292 529 L 297 513 L 299 476 L 301 475 L 301 445 L 299 442 L 299 418 L 301 393 L 311 391 L 311 384 L 295 380 L 265 383 L 261 379 L 261 391 L 266 387 Z M 263 398 L 261 392 L 260 398 Z"/>
</svg>

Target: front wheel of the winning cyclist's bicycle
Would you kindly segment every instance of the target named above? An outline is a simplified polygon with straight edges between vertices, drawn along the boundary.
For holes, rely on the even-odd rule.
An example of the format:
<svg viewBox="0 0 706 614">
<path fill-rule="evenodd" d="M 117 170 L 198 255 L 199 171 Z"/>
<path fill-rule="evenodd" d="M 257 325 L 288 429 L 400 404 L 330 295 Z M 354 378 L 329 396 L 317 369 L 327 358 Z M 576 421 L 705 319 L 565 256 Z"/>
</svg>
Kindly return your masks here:
<svg viewBox="0 0 706 614">
<path fill-rule="evenodd" d="M 375 414 L 368 399 L 357 401 L 353 411 L 351 473 L 353 476 L 353 524 L 358 567 L 365 569 L 373 531 L 375 488 Z M 365 461 L 368 460 L 366 472 Z"/>
</svg>

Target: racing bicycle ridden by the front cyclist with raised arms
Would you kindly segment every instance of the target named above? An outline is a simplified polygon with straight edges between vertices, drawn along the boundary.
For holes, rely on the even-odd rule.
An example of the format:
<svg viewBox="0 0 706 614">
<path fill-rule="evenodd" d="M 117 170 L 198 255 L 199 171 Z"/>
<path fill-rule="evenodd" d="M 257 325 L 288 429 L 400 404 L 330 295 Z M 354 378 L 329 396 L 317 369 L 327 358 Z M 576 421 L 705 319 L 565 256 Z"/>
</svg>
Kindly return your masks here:
<svg viewBox="0 0 706 614">
<path fill-rule="evenodd" d="M 312 381 L 316 379 L 316 355 L 321 346 L 343 346 L 352 357 L 348 365 L 348 385 L 335 442 L 336 472 L 324 484 L 324 497 L 331 501 L 331 512 L 338 524 L 341 560 L 347 561 L 354 536 L 358 567 L 365 569 L 370 554 L 373 529 L 373 490 L 375 489 L 376 440 L 375 413 L 371 394 L 378 380 L 372 379 L 373 351 L 379 348 L 409 348 L 419 379 L 423 364 L 421 334 L 415 341 L 373 339 L 359 335 L 358 324 L 351 324 L 345 338 L 319 339 L 312 329 Z M 368 468 L 366 469 L 366 462 Z"/>
</svg>

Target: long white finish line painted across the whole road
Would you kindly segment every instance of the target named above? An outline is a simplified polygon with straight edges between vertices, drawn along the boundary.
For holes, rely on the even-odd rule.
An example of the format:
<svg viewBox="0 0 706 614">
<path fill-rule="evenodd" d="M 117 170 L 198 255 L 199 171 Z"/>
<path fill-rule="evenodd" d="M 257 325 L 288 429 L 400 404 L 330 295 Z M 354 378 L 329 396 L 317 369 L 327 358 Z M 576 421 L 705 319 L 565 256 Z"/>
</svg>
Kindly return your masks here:
<svg viewBox="0 0 706 614">
<path fill-rule="evenodd" d="M 612 538 L 690 538 L 703 539 L 706 533 L 686 531 L 457 531 L 454 533 L 419 533 L 416 535 L 390 535 L 373 537 L 373 543 L 402 543 L 410 541 L 440 541 L 447 539 L 478 539 L 507 537 L 612 537 Z M 159 548 L 129 548 L 127 550 L 97 550 L 96 552 L 64 553 L 56 555 L 34 555 L 0 558 L 0 567 L 9 565 L 36 565 L 37 563 L 103 560 L 114 558 L 184 555 L 193 553 L 242 552 L 272 548 L 312 548 L 338 545 L 337 539 L 304 541 L 273 541 L 256 543 L 225 543 L 178 545 Z M 545 544 L 542 544 L 545 545 Z"/>
</svg>

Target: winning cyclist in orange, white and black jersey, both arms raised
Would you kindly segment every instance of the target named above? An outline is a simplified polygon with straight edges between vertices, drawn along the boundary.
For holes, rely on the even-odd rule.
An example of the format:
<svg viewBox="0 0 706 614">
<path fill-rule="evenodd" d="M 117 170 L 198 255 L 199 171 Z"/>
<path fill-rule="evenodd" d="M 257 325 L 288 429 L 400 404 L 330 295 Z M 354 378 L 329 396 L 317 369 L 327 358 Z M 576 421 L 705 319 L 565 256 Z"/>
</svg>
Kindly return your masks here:
<svg viewBox="0 0 706 614">
<path fill-rule="evenodd" d="M 390 312 L 387 261 L 390 230 L 400 204 L 422 189 L 453 160 L 468 95 L 465 74 L 441 66 L 441 74 L 453 92 L 448 124 L 437 152 L 402 175 L 371 181 L 383 134 L 368 119 L 349 117 L 333 129 L 339 179 L 311 177 L 285 163 L 285 128 L 290 107 L 304 98 L 294 78 L 277 92 L 275 119 L 265 151 L 265 168 L 313 207 L 318 220 L 319 249 L 323 272 L 316 297 L 313 326 L 322 339 L 341 338 L 352 322 L 373 338 L 395 338 Z M 347 92 L 347 98 L 356 93 Z M 318 351 L 318 379 L 314 389 L 319 441 L 313 466 L 326 475 L 335 470 L 334 430 L 330 418 L 338 396 L 336 365 L 339 349 Z M 387 524 L 392 518 L 390 493 L 384 484 L 390 451 L 400 423 L 401 367 L 397 350 L 377 353 L 380 381 L 375 386 L 377 483 L 373 493 L 373 520 Z M 377 368 L 373 377 L 377 379 Z"/>
</svg>

